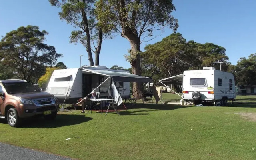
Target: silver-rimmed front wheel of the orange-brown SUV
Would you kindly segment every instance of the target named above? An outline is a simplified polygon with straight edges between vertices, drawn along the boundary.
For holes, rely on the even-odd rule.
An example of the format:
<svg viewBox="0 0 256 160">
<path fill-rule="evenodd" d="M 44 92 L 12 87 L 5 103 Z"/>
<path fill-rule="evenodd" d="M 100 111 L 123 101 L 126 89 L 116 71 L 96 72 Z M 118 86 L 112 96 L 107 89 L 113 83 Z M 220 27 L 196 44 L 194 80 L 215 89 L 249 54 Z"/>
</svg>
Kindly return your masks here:
<svg viewBox="0 0 256 160">
<path fill-rule="evenodd" d="M 18 127 L 21 122 L 21 119 L 18 116 L 16 108 L 10 108 L 7 112 L 6 118 L 8 124 L 12 127 Z"/>
</svg>

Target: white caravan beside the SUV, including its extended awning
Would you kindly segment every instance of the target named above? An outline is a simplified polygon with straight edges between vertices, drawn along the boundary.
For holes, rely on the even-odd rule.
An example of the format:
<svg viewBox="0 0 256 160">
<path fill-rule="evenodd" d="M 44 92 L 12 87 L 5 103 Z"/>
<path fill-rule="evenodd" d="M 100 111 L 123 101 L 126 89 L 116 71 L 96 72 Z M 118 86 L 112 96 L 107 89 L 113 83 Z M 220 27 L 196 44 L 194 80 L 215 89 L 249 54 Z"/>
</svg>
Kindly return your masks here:
<svg viewBox="0 0 256 160">
<path fill-rule="evenodd" d="M 104 66 L 92 66 L 54 70 L 46 92 L 54 94 L 59 102 L 71 104 L 86 97 L 93 90 L 100 98 L 108 96 L 111 81 L 122 98 L 130 97 L 130 82 L 152 82 L 152 78 L 130 74 L 125 70 L 112 70 Z"/>
</svg>

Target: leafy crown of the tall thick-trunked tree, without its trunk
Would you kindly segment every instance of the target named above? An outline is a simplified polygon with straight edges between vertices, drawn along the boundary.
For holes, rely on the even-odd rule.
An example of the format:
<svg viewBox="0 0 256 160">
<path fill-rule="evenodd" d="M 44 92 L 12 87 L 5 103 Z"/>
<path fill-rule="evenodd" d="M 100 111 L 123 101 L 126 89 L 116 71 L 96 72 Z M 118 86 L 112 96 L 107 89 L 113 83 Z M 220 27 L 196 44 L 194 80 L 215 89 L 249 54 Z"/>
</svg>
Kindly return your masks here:
<svg viewBox="0 0 256 160">
<path fill-rule="evenodd" d="M 152 36 L 153 30 L 176 30 L 178 20 L 171 15 L 174 10 L 172 0 L 99 0 L 95 13 L 104 32 L 131 31 L 140 39 L 144 33 Z"/>
</svg>

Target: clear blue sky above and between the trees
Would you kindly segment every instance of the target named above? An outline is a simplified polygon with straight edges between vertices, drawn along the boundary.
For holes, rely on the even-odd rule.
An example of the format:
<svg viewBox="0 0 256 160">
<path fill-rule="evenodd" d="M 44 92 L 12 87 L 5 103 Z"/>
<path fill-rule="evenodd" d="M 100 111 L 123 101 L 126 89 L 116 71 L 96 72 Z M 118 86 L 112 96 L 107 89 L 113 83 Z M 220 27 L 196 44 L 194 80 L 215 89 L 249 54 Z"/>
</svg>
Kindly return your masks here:
<svg viewBox="0 0 256 160">
<path fill-rule="evenodd" d="M 236 64 L 240 57 L 248 58 L 256 53 L 255 0 L 173 0 L 173 3 L 176 7 L 173 15 L 180 25 L 177 32 L 187 41 L 210 42 L 226 48 L 232 64 Z M 63 54 L 59 62 L 64 62 L 68 68 L 77 68 L 82 54 L 82 65 L 88 65 L 86 48 L 69 43 L 74 28 L 61 21 L 58 12 L 59 9 L 52 7 L 48 0 L 0 0 L 0 36 L 20 26 L 39 26 L 40 30 L 49 32 L 45 43 L 55 46 L 56 51 Z M 171 33 L 172 30 L 166 29 L 147 44 L 154 44 Z M 141 45 L 142 51 L 145 45 Z M 128 40 L 120 35 L 103 41 L 100 65 L 130 68 L 124 58 L 128 49 Z"/>
</svg>

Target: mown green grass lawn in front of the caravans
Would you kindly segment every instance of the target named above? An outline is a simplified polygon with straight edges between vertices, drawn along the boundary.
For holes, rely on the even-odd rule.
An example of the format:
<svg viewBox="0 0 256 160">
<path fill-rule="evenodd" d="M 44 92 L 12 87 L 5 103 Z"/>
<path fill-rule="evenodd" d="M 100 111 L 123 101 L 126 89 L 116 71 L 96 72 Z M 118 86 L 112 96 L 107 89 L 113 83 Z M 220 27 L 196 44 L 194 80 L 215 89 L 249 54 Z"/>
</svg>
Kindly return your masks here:
<svg viewBox="0 0 256 160">
<path fill-rule="evenodd" d="M 228 107 L 137 104 L 120 116 L 71 110 L 21 128 L 2 120 L 0 142 L 86 160 L 252 160 L 256 122 L 244 115 L 256 118 L 255 102 L 237 96 Z"/>
</svg>

